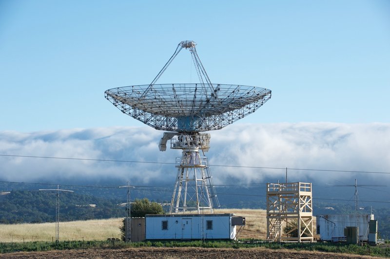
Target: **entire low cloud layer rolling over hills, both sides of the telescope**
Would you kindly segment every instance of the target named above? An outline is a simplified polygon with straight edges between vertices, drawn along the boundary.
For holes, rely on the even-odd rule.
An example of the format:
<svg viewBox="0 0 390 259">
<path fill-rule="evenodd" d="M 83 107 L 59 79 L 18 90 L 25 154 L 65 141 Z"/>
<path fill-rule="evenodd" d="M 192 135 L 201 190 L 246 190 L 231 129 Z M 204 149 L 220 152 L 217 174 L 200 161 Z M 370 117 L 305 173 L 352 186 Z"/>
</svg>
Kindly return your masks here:
<svg viewBox="0 0 390 259">
<path fill-rule="evenodd" d="M 158 150 L 162 131 L 150 127 L 0 132 L 0 154 L 174 163 L 178 150 Z M 390 124 L 280 123 L 237 124 L 212 131 L 206 155 L 215 183 L 284 180 L 285 169 L 257 166 L 390 172 Z M 117 178 L 172 184 L 174 165 L 0 156 L 3 181 Z M 213 166 L 214 165 L 214 166 Z M 225 165 L 225 166 L 216 166 Z M 288 170 L 289 181 L 381 184 L 389 174 Z"/>
</svg>

